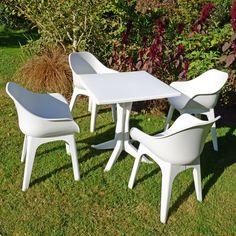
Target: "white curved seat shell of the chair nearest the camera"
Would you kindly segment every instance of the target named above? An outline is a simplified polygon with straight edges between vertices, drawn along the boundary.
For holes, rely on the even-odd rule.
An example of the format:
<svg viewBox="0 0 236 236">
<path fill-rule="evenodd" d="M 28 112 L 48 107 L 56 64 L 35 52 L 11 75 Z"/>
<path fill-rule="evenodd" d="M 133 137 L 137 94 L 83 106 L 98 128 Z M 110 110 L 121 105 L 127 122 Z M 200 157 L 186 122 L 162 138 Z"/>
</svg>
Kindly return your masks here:
<svg viewBox="0 0 236 236">
<path fill-rule="evenodd" d="M 165 132 L 156 136 L 139 134 L 136 130 L 131 137 L 137 139 L 160 159 L 172 164 L 190 164 L 203 150 L 212 124 L 218 120 L 202 121 L 189 114 L 183 114 Z M 142 140 L 141 140 L 142 139 Z M 152 157 L 155 160 L 155 157 Z M 158 162 L 158 161 L 157 161 Z"/>
</svg>

